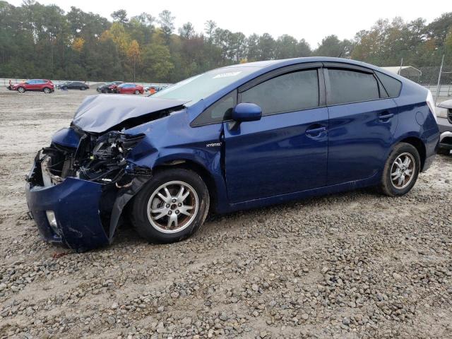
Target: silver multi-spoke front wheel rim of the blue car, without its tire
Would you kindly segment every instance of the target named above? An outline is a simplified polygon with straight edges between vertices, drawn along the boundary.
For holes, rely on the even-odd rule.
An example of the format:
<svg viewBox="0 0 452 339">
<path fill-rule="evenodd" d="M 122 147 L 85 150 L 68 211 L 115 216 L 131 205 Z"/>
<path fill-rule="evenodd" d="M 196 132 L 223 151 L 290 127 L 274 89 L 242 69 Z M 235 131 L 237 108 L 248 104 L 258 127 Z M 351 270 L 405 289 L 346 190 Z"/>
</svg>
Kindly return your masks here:
<svg viewBox="0 0 452 339">
<path fill-rule="evenodd" d="M 148 201 L 148 219 L 155 230 L 175 233 L 189 227 L 199 208 L 198 194 L 186 182 L 167 182 L 159 186 Z"/>
</svg>

